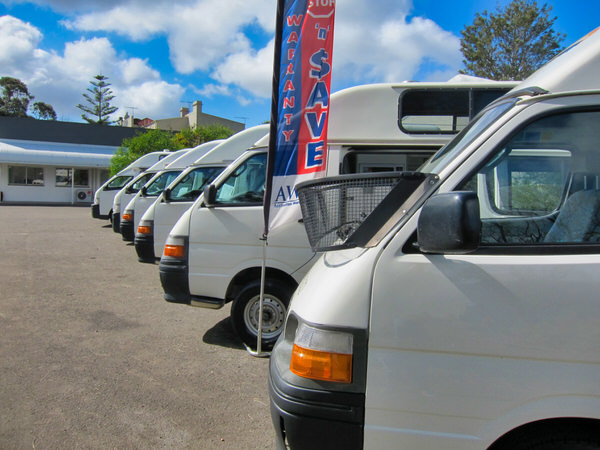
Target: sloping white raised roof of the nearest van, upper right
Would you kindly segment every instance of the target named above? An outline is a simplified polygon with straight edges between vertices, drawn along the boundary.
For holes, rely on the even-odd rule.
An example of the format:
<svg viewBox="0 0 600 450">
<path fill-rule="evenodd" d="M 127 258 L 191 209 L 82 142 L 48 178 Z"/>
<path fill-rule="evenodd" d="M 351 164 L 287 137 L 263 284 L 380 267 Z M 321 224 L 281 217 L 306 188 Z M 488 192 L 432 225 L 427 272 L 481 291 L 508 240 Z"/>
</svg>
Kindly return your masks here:
<svg viewBox="0 0 600 450">
<path fill-rule="evenodd" d="M 598 90 L 600 28 L 579 39 L 513 89 L 539 87 L 550 93 Z"/>
</svg>

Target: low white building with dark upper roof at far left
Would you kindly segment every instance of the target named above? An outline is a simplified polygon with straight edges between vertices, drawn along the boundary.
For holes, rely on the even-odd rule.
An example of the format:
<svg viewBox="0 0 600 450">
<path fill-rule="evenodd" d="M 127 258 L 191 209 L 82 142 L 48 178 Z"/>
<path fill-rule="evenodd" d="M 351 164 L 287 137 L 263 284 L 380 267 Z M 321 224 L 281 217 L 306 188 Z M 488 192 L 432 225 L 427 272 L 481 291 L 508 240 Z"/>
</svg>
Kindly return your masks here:
<svg viewBox="0 0 600 450">
<path fill-rule="evenodd" d="M 0 117 L 0 201 L 90 204 L 136 128 Z"/>
</svg>

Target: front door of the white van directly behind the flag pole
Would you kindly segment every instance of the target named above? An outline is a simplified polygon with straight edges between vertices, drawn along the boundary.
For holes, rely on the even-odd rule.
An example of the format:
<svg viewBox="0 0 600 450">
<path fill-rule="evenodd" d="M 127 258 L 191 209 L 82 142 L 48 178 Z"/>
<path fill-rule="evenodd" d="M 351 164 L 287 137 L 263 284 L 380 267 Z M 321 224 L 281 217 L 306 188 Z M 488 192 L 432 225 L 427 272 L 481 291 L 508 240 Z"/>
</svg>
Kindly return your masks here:
<svg viewBox="0 0 600 450">
<path fill-rule="evenodd" d="M 261 266 L 266 164 L 266 152 L 250 154 L 217 186 L 216 203 L 193 211 L 189 233 L 192 296 L 224 301 L 236 274 Z M 292 274 L 312 256 L 301 224 L 283 226 L 269 235 L 271 267 Z"/>
</svg>

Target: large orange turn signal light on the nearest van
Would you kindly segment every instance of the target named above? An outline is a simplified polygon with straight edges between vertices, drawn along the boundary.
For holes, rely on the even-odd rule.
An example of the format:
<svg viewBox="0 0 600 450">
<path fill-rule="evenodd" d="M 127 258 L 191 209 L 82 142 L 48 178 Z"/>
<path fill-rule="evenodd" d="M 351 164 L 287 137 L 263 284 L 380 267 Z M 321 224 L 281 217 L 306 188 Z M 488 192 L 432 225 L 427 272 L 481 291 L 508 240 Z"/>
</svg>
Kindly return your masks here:
<svg viewBox="0 0 600 450">
<path fill-rule="evenodd" d="M 315 380 L 352 382 L 352 354 L 310 350 L 294 344 L 290 370 Z"/>
</svg>

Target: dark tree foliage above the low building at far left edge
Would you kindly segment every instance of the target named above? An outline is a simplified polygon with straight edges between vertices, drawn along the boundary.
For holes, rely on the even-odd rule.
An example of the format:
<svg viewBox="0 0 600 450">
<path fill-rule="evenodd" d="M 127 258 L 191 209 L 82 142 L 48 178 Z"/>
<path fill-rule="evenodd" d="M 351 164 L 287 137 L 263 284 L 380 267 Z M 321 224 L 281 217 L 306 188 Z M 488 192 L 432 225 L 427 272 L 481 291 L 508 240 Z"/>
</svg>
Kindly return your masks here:
<svg viewBox="0 0 600 450">
<path fill-rule="evenodd" d="M 29 93 L 27 85 L 12 77 L 0 78 L 0 116 L 28 117 L 29 105 L 35 97 Z M 56 113 L 51 105 L 36 102 L 31 108 L 38 119 L 56 120 Z"/>
</svg>

